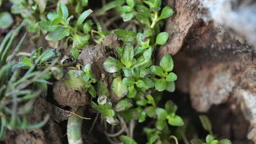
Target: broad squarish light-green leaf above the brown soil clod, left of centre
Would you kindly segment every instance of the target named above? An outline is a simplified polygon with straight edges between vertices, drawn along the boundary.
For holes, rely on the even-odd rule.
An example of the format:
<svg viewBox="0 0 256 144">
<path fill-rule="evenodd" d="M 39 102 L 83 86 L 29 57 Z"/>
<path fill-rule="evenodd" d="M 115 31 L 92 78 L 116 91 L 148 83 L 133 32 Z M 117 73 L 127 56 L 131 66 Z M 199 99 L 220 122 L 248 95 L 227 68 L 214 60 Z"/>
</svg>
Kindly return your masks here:
<svg viewBox="0 0 256 144">
<path fill-rule="evenodd" d="M 90 39 L 90 35 L 85 35 L 85 36 L 74 35 L 73 36 L 73 48 L 78 48 L 78 49 L 83 48 L 85 45 L 89 44 L 89 42 L 88 42 L 89 39 Z"/>
</svg>

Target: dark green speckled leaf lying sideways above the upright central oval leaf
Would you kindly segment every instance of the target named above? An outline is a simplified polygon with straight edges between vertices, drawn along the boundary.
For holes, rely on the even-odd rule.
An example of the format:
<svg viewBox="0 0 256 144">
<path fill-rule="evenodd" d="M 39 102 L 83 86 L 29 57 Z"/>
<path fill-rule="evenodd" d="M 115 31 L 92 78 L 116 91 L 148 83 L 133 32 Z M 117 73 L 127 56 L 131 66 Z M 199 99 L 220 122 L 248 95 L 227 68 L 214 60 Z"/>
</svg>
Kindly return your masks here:
<svg viewBox="0 0 256 144">
<path fill-rule="evenodd" d="M 133 42 L 136 36 L 134 31 L 126 31 L 124 29 L 112 30 L 112 33 L 124 42 Z"/>
</svg>

